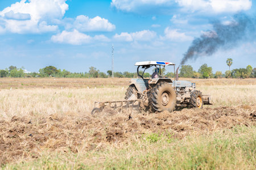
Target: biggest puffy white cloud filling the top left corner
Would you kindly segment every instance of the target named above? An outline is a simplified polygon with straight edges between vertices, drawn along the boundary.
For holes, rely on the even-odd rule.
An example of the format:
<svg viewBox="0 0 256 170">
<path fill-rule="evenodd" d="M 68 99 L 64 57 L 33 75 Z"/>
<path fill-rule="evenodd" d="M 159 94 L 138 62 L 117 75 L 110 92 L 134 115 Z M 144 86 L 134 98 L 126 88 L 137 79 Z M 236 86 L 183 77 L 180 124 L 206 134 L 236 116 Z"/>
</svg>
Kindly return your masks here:
<svg viewBox="0 0 256 170">
<path fill-rule="evenodd" d="M 55 19 L 63 18 L 68 10 L 67 0 L 22 0 L 0 11 L 5 22 L 5 31 L 13 33 L 41 33 L 56 31 L 51 25 Z"/>
</svg>

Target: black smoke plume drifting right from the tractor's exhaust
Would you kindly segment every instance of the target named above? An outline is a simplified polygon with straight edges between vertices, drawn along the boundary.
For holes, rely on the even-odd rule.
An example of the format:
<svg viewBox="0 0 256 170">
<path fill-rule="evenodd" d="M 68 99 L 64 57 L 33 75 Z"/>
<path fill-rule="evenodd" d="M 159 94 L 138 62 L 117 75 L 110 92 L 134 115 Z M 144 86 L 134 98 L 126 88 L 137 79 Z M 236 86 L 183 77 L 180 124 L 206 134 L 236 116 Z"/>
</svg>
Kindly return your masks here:
<svg viewBox="0 0 256 170">
<path fill-rule="evenodd" d="M 184 54 L 180 65 L 184 65 L 188 59 L 196 59 L 200 56 L 210 56 L 218 49 L 231 49 L 238 42 L 255 36 L 255 20 L 245 14 L 233 16 L 229 24 L 220 21 L 212 22 L 213 30 L 204 32 L 199 38 L 195 38 Z"/>
</svg>

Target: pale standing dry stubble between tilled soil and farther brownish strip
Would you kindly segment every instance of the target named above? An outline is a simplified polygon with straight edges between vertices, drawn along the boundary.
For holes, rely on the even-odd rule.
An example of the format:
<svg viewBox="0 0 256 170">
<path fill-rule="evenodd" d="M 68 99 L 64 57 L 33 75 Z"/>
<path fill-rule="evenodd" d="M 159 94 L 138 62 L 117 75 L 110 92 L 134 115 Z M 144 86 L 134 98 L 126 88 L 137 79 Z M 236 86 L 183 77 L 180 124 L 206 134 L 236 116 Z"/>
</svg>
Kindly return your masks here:
<svg viewBox="0 0 256 170">
<path fill-rule="evenodd" d="M 212 106 L 256 104 L 256 85 L 201 86 L 210 94 Z M 49 114 L 89 114 L 94 101 L 123 100 L 126 87 L 106 88 L 28 88 L 0 91 L 0 117 L 46 116 Z"/>
</svg>

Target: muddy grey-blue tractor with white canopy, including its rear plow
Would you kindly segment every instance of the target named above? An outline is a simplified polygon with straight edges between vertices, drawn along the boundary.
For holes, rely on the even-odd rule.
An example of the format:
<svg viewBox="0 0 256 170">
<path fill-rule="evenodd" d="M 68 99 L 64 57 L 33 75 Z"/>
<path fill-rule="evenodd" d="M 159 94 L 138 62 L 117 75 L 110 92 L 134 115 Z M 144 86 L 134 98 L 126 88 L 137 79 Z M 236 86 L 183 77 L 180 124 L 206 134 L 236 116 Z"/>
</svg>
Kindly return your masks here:
<svg viewBox="0 0 256 170">
<path fill-rule="evenodd" d="M 210 96 L 203 95 L 202 92 L 196 90 L 196 84 L 185 80 L 179 80 L 179 76 L 175 75 L 175 63 L 164 61 L 143 61 L 136 62 L 138 78 L 130 80 L 130 86 L 125 93 L 123 101 L 105 101 L 96 102 L 100 107 L 94 108 L 92 114 L 101 112 L 106 105 L 117 107 L 133 107 L 138 102 L 138 108 L 149 110 L 151 112 L 172 112 L 179 107 L 195 107 L 203 108 L 204 104 L 211 104 Z M 174 80 L 163 75 L 166 66 L 174 66 Z M 151 78 L 144 78 L 147 69 L 155 70 Z M 142 71 L 142 70 L 143 71 Z M 114 105 L 113 105 L 114 104 Z M 118 105 L 119 104 L 119 105 Z"/>
</svg>

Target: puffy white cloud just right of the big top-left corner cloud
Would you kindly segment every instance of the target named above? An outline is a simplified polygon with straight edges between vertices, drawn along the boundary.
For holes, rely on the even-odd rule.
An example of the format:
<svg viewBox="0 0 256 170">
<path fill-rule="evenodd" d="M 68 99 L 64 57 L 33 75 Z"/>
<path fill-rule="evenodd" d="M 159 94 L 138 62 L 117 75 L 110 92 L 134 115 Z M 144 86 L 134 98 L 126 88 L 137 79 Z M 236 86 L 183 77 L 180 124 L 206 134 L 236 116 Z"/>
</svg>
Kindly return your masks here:
<svg viewBox="0 0 256 170">
<path fill-rule="evenodd" d="M 79 15 L 76 17 L 73 27 L 81 32 L 85 31 L 113 31 L 115 25 L 109 22 L 108 19 L 96 16 L 95 18 L 88 18 L 85 15 Z"/>
</svg>

